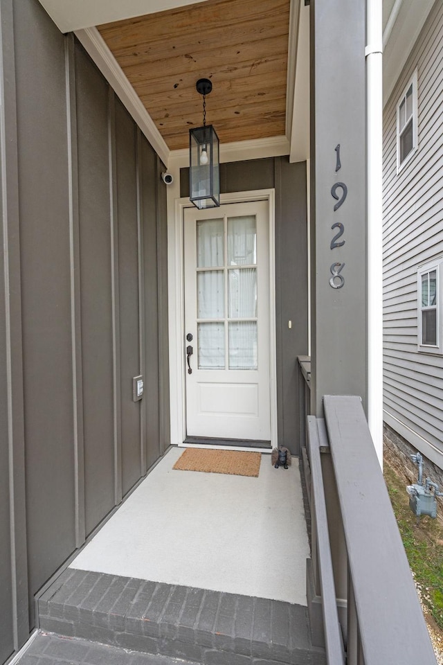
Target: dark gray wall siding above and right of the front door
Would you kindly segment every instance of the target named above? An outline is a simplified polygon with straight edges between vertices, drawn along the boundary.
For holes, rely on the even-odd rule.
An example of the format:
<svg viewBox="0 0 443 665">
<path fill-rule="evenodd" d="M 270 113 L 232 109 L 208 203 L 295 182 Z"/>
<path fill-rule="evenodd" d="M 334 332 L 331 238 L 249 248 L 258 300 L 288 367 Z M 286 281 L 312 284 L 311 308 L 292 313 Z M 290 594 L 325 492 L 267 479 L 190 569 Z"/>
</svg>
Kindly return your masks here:
<svg viewBox="0 0 443 665">
<path fill-rule="evenodd" d="M 220 164 L 220 192 L 275 188 L 275 333 L 278 444 L 300 454 L 298 355 L 308 351 L 306 163 L 267 157 Z M 180 170 L 189 196 L 189 169 Z M 292 321 L 289 328 L 288 321 Z"/>
</svg>

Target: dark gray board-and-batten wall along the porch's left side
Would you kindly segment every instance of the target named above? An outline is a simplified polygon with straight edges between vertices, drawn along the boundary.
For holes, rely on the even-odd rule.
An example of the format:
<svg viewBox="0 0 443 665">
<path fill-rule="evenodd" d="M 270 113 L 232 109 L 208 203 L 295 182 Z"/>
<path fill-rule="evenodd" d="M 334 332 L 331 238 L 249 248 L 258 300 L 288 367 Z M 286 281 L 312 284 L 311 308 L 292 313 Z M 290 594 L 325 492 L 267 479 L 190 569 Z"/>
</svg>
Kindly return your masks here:
<svg viewBox="0 0 443 665">
<path fill-rule="evenodd" d="M 0 19 L 3 663 L 170 434 L 163 164 L 37 0 L 0 0 Z"/>
</svg>

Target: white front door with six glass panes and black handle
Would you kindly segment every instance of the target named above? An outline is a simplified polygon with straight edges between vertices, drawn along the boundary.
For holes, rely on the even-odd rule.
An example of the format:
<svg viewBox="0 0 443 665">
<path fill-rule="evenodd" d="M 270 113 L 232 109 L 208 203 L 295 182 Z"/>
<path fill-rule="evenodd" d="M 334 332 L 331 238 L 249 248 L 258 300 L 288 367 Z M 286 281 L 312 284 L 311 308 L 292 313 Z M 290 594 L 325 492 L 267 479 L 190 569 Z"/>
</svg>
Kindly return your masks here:
<svg viewBox="0 0 443 665">
<path fill-rule="evenodd" d="M 268 206 L 185 210 L 187 436 L 271 439 Z"/>
</svg>

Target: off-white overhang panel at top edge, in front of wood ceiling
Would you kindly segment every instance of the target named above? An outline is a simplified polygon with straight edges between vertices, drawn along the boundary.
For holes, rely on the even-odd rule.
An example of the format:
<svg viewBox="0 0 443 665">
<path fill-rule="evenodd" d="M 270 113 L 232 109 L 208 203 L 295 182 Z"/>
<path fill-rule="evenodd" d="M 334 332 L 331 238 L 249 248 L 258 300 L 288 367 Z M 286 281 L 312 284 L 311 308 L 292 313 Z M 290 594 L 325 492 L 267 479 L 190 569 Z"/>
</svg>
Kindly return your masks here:
<svg viewBox="0 0 443 665">
<path fill-rule="evenodd" d="M 164 12 L 206 0 L 40 0 L 62 33 Z"/>
</svg>

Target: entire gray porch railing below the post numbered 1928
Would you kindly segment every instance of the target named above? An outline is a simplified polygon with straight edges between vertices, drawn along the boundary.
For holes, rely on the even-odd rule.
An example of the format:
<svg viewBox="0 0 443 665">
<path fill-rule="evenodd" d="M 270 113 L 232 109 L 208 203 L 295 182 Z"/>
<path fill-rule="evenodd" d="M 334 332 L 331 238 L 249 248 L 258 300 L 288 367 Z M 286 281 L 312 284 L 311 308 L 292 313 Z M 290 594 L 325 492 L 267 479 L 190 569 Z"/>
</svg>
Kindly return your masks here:
<svg viewBox="0 0 443 665">
<path fill-rule="evenodd" d="M 324 419 L 307 416 L 305 456 L 313 642 L 329 665 L 435 665 L 361 400 L 323 405 Z"/>
</svg>

